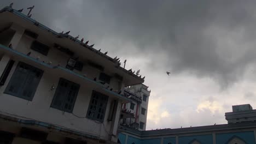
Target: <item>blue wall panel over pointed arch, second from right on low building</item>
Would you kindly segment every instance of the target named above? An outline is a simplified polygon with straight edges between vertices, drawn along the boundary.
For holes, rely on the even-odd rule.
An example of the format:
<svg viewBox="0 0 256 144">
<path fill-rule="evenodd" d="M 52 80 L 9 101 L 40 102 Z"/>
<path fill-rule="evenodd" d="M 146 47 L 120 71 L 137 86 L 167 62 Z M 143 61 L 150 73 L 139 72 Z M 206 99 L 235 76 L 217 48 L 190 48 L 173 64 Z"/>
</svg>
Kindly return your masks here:
<svg viewBox="0 0 256 144">
<path fill-rule="evenodd" d="M 201 142 L 201 144 L 212 144 L 212 135 L 193 135 L 179 137 L 179 143 L 189 143 L 194 139 Z"/>
</svg>

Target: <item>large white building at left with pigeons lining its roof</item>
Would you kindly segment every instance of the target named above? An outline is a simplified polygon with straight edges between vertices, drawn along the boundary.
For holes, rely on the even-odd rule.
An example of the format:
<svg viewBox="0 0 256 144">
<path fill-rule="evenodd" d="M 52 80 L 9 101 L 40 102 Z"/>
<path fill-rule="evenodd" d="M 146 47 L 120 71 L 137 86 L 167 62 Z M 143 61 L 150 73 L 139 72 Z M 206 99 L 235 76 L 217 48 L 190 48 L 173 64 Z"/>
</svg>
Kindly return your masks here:
<svg viewBox="0 0 256 144">
<path fill-rule="evenodd" d="M 124 87 L 144 79 L 68 33 L 0 10 L 0 143 L 117 143 Z"/>
</svg>

